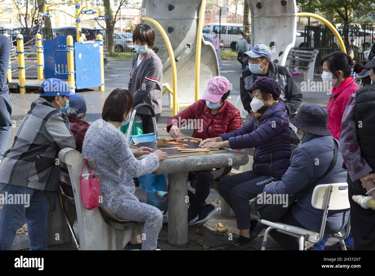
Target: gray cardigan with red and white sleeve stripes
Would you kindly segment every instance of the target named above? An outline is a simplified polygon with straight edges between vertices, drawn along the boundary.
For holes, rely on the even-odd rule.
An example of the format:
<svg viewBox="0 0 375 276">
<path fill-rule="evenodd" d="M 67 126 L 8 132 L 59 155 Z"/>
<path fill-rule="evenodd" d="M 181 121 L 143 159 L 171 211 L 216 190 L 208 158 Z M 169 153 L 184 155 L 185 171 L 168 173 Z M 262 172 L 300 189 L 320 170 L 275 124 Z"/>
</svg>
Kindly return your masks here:
<svg viewBox="0 0 375 276">
<path fill-rule="evenodd" d="M 151 50 L 137 67 L 138 56 L 138 53 L 133 56 L 127 89 L 133 93 L 134 107 L 146 103 L 153 107 L 155 114 L 158 114 L 162 112 L 163 64 Z M 142 107 L 137 113 L 151 114 L 147 107 Z"/>
</svg>

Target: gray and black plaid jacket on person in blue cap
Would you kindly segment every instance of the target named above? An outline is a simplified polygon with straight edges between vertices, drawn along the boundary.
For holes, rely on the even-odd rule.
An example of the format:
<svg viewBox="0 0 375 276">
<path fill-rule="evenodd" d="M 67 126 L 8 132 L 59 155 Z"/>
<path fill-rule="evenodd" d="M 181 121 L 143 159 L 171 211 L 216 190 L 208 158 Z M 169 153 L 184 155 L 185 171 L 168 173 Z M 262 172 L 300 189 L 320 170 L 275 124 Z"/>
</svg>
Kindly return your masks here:
<svg viewBox="0 0 375 276">
<path fill-rule="evenodd" d="M 75 149 L 68 116 L 37 98 L 0 163 L 0 183 L 55 192 L 60 179 L 57 152 Z"/>
</svg>

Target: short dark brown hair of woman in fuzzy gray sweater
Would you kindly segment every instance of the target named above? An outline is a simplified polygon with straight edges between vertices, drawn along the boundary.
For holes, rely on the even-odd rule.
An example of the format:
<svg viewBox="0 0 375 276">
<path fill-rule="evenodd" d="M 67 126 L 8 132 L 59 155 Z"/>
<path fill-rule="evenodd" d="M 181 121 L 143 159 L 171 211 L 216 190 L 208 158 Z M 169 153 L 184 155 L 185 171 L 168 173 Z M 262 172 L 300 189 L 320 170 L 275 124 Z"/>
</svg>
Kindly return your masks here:
<svg viewBox="0 0 375 276">
<path fill-rule="evenodd" d="M 133 94 L 130 90 L 116 88 L 105 99 L 102 118 L 104 121 L 122 122 L 123 115 L 130 112 L 134 105 Z"/>
</svg>

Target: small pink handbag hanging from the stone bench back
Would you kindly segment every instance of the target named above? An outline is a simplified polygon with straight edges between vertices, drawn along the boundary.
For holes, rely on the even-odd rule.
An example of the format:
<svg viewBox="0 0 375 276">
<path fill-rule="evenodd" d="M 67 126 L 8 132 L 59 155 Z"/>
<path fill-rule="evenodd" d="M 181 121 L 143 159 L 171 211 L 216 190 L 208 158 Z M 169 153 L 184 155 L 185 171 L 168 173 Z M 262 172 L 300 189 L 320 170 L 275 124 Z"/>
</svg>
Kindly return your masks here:
<svg viewBox="0 0 375 276">
<path fill-rule="evenodd" d="M 83 164 L 81 170 L 81 199 L 83 207 L 85 207 L 87 210 L 93 210 L 99 206 L 100 181 L 98 178 L 93 178 L 94 170 L 90 170 L 90 167 L 87 165 L 88 158 L 85 158 L 85 163 Z M 82 176 L 82 172 L 85 166 L 87 166 L 87 169 L 89 170 L 88 179 L 83 178 Z"/>
</svg>

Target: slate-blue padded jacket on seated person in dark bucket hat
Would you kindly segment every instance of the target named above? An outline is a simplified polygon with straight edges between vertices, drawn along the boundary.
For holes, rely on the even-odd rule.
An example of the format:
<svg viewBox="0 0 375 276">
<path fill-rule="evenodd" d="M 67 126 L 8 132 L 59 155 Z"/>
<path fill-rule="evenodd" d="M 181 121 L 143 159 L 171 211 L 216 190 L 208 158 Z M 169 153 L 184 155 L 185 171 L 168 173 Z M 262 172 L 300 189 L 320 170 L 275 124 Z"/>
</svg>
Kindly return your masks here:
<svg viewBox="0 0 375 276">
<path fill-rule="evenodd" d="M 293 195 L 323 175 L 333 159 L 333 139 L 332 136 L 306 133 L 302 139 L 302 145 L 293 151 L 291 165 L 282 180 L 269 184 L 263 192 Z M 347 171 L 342 168 L 343 161 L 339 152 L 335 167 L 317 185 L 346 182 Z M 323 210 L 315 209 L 311 205 L 314 187 L 291 206 L 291 212 L 294 218 L 306 229 L 320 232 Z M 349 209 L 329 211 L 325 233 L 335 234 L 339 232 L 347 224 L 349 212 Z"/>
</svg>

